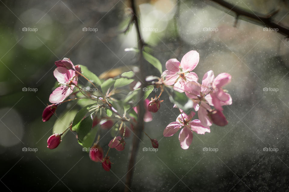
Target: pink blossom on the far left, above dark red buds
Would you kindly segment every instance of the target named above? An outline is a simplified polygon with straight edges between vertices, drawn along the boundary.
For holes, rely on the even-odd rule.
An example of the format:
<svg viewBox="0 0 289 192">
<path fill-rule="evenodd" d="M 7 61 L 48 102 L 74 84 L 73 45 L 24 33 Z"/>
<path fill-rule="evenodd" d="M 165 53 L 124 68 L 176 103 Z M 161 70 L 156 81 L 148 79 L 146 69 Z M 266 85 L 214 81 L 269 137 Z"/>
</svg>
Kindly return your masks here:
<svg viewBox="0 0 289 192">
<path fill-rule="evenodd" d="M 57 79 L 60 86 L 57 87 L 50 95 L 50 103 L 58 103 L 64 101 L 64 99 L 66 99 L 73 92 L 73 88 L 77 84 L 78 77 L 72 62 L 70 60 L 65 62 L 64 61 L 65 60 L 60 60 L 56 61 L 57 64 L 55 63 L 56 66 L 59 65 L 64 67 L 57 67 L 53 72 L 54 77 Z M 63 62 L 65 64 L 63 64 Z M 65 68 L 65 66 L 68 66 L 69 64 L 72 64 L 73 69 Z"/>
</svg>

